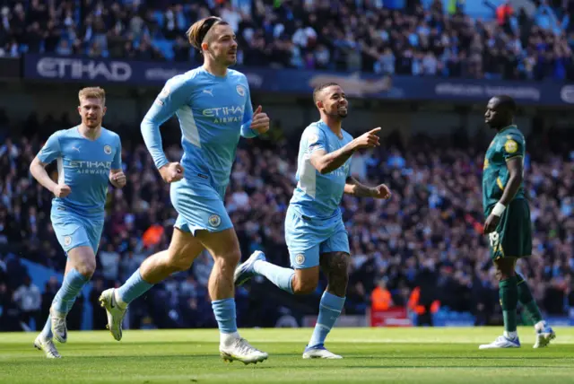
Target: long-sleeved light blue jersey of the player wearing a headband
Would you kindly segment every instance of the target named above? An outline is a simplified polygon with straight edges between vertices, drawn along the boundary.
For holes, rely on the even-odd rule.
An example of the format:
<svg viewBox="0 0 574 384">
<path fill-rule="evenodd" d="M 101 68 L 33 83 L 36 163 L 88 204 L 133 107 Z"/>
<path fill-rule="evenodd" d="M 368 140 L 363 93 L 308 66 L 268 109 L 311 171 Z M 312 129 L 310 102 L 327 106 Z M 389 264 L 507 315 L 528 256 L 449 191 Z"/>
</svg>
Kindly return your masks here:
<svg viewBox="0 0 574 384">
<path fill-rule="evenodd" d="M 253 107 L 248 80 L 228 69 L 223 77 L 203 66 L 171 78 L 142 122 L 143 140 L 156 167 L 167 164 L 160 126 L 176 114 L 184 150 L 184 177 L 200 177 L 218 190 L 229 184 L 239 135 L 255 137 L 249 128 Z"/>
</svg>

